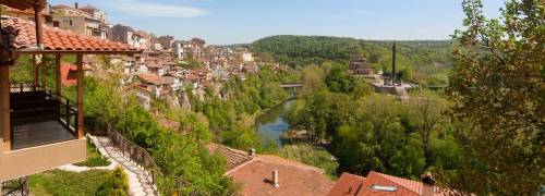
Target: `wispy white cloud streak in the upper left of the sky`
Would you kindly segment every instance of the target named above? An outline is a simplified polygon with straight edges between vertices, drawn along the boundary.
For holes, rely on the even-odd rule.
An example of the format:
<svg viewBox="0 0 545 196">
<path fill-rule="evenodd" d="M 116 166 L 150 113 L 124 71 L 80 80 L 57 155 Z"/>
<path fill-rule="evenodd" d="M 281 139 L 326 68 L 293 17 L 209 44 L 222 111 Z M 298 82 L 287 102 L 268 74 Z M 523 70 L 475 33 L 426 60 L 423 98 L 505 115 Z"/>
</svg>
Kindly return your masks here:
<svg viewBox="0 0 545 196">
<path fill-rule="evenodd" d="M 199 15 L 205 15 L 208 13 L 206 10 L 193 8 L 193 7 L 182 7 L 182 5 L 170 5 L 161 3 L 150 3 L 150 2 L 140 2 L 133 0 L 119 0 L 119 4 L 116 4 L 111 9 L 124 12 L 125 14 L 135 16 L 149 16 L 149 17 L 195 17 Z"/>
</svg>

